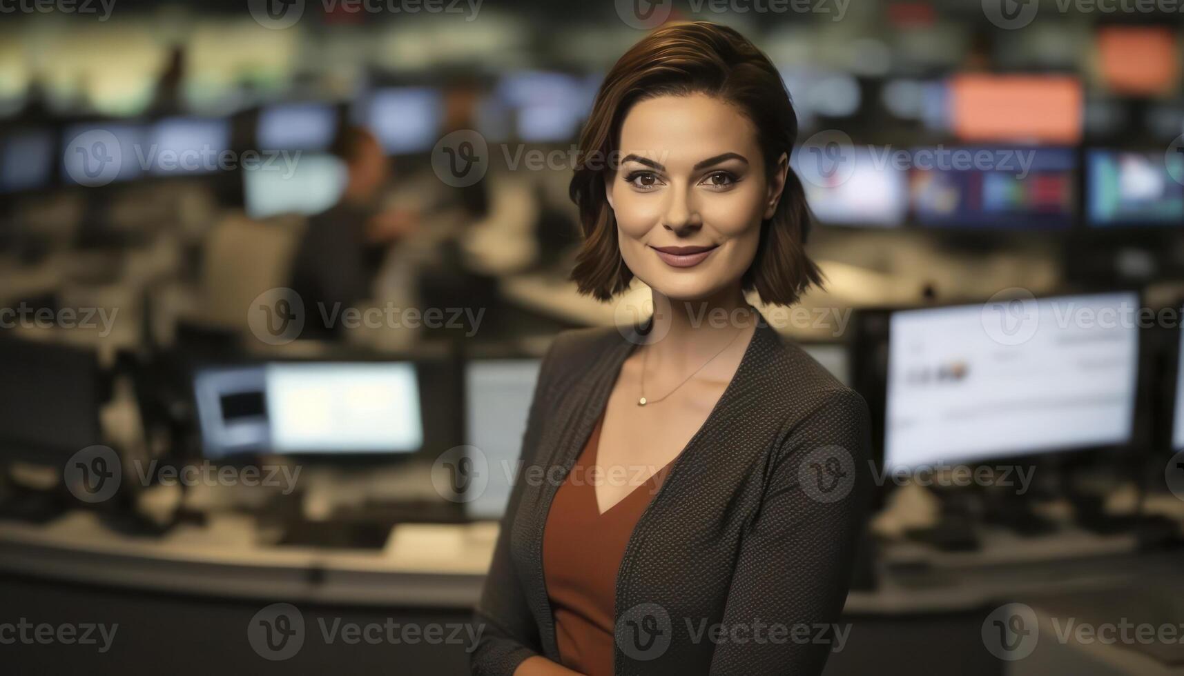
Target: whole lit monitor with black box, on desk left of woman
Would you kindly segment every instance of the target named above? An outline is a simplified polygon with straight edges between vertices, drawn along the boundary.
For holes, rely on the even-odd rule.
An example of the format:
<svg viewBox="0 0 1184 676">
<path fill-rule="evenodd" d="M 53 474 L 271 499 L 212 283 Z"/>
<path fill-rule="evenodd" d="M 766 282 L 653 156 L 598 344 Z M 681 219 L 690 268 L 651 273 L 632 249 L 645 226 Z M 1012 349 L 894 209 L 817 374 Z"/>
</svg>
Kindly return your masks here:
<svg viewBox="0 0 1184 676">
<path fill-rule="evenodd" d="M 199 367 L 202 452 L 411 453 L 424 446 L 412 362 L 274 361 Z"/>
</svg>

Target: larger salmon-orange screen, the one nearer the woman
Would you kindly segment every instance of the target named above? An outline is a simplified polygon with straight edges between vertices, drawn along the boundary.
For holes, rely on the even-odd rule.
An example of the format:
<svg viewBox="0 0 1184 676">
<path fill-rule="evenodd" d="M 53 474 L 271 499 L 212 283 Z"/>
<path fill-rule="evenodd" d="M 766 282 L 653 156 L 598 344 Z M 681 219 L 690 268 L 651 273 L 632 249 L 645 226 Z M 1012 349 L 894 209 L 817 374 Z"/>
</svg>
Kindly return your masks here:
<svg viewBox="0 0 1184 676">
<path fill-rule="evenodd" d="M 950 82 L 950 124 L 971 142 L 1074 144 L 1085 95 L 1068 76 L 959 75 Z"/>
</svg>

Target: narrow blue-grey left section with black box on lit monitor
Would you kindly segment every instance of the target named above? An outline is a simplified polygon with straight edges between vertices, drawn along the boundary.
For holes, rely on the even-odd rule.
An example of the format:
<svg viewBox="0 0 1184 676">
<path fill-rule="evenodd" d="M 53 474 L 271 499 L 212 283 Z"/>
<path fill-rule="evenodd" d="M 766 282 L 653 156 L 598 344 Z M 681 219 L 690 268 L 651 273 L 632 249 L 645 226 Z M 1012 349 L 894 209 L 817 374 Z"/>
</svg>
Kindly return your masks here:
<svg viewBox="0 0 1184 676">
<path fill-rule="evenodd" d="M 237 453 L 269 450 L 263 365 L 207 367 L 193 378 L 193 395 L 205 457 L 217 459 Z"/>
</svg>

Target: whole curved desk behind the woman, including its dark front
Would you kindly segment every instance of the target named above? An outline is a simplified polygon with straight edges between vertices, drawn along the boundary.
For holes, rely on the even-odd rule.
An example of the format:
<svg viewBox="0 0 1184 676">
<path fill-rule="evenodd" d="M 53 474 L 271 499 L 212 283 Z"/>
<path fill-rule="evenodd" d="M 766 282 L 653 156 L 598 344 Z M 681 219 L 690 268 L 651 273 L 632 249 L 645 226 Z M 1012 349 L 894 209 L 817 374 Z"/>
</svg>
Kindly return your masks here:
<svg viewBox="0 0 1184 676">
<path fill-rule="evenodd" d="M 47 622 L 47 612 L 60 612 L 92 619 L 114 617 L 123 623 L 128 627 L 120 644 L 123 652 L 112 649 L 120 669 L 101 672 L 208 674 L 219 669 L 221 659 L 242 661 L 263 674 L 305 672 L 324 664 L 334 664 L 334 672 L 365 672 L 397 659 L 418 664 L 410 671 L 413 674 L 464 674 L 468 655 L 458 645 L 341 645 L 310 638 L 294 659 L 271 663 L 259 658 L 246 639 L 244 627 L 255 613 L 277 601 L 296 605 L 307 624 L 332 624 L 334 619 L 465 623 L 480 595 L 495 527 L 430 528 L 453 537 L 448 556 L 433 560 L 432 552 L 413 551 L 417 542 L 432 536 L 429 533 L 411 533 L 400 543 L 398 530 L 385 551 L 268 547 L 252 535 L 242 516 L 213 519 L 206 528 L 179 528 L 159 540 L 103 532 L 86 513 L 70 514 L 47 526 L 5 522 L 0 523 L 0 591 L 12 604 L 9 612 L 41 622 Z M 848 648 L 832 656 L 828 675 L 867 674 L 869 669 L 889 675 L 942 674 L 947 672 L 942 665 L 952 664 L 959 665 L 959 674 L 1031 674 L 1035 657 L 1032 662 L 1003 663 L 986 652 L 980 630 L 991 610 L 1005 603 L 1037 605 L 1055 593 L 1156 584 L 1166 587 L 1167 581 L 1179 580 L 1184 565 L 1180 553 L 1135 555 L 1128 537 L 1096 537 L 1073 530 L 1027 543 L 989 533 L 984 545 L 977 554 L 939 554 L 903 543 L 889 547 L 882 558 L 880 587 L 852 592 L 848 598 L 845 622 L 854 631 Z M 902 572 L 905 561 L 912 562 L 914 572 Z M 924 569 L 918 569 L 919 561 L 924 561 Z M 219 645 L 220 652 L 178 661 L 178 655 L 192 648 L 192 632 L 208 633 L 205 642 Z M 1048 670 L 1049 661 L 1054 665 L 1068 663 L 1068 657 L 1056 655 L 1072 651 L 1072 646 L 1044 643 L 1037 651 L 1043 659 L 1038 663 L 1045 668 L 1042 674 L 1057 674 Z M 124 658 L 150 645 L 170 649 L 159 663 L 135 658 L 126 668 Z M 884 657 L 892 655 L 900 659 L 884 664 Z M 1089 663 L 1101 659 L 1088 652 L 1073 655 Z M 47 657 L 41 651 L 37 658 L 51 659 L 50 664 L 59 668 L 52 671 L 86 664 L 89 672 L 99 672 L 82 657 L 69 651 Z M 1126 654 L 1119 657 L 1135 667 L 1145 659 Z M 961 664 L 961 659 L 973 664 Z"/>
</svg>

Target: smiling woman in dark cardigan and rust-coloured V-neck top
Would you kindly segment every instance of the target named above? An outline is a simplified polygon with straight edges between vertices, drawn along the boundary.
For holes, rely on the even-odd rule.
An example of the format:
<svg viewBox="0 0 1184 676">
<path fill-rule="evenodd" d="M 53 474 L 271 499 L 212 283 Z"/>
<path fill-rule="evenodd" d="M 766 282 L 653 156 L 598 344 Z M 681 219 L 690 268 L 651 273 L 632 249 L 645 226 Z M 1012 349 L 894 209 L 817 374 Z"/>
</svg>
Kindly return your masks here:
<svg viewBox="0 0 1184 676">
<path fill-rule="evenodd" d="M 474 674 L 822 671 L 867 406 L 745 302 L 821 278 L 796 135 L 777 70 L 732 28 L 662 27 L 607 73 L 571 185 L 572 276 L 605 301 L 638 277 L 654 318 L 565 333 L 545 358 Z"/>
</svg>

